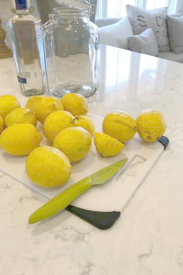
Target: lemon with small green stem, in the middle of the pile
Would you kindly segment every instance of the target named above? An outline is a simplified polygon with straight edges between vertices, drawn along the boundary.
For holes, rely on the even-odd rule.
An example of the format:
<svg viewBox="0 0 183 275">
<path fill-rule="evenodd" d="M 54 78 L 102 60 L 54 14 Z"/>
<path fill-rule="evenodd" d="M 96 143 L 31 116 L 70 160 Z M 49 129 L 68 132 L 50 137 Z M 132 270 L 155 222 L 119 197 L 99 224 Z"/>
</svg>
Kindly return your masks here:
<svg viewBox="0 0 183 275">
<path fill-rule="evenodd" d="M 43 133 L 48 141 L 53 142 L 56 135 L 67 127 L 74 126 L 75 117 L 67 111 L 56 111 L 50 114 L 43 123 Z"/>
</svg>

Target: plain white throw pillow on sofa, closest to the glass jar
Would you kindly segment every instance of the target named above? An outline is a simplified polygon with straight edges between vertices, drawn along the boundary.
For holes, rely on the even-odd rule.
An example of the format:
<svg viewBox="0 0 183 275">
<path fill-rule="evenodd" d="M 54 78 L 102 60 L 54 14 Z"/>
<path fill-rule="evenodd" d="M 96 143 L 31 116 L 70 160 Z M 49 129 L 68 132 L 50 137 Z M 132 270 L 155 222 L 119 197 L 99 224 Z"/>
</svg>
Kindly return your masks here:
<svg viewBox="0 0 183 275">
<path fill-rule="evenodd" d="M 127 36 L 133 35 L 128 16 L 115 24 L 101 27 L 99 30 L 101 44 L 128 49 Z"/>
</svg>

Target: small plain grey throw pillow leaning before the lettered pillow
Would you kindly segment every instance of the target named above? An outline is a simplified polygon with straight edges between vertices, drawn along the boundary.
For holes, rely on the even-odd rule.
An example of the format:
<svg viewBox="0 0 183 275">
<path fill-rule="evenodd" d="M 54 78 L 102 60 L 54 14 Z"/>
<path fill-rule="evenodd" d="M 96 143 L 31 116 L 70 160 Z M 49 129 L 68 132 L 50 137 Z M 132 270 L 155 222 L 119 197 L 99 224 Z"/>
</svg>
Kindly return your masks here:
<svg viewBox="0 0 183 275">
<path fill-rule="evenodd" d="M 127 41 L 131 51 L 158 56 L 158 45 L 150 28 L 143 31 L 140 35 L 127 37 Z"/>
</svg>

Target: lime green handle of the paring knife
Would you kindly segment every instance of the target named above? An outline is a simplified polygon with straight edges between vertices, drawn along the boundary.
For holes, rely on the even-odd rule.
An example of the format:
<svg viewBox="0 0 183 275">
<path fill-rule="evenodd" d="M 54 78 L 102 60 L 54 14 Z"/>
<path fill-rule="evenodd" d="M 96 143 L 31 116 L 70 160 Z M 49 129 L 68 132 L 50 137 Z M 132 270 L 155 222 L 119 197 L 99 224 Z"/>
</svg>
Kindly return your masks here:
<svg viewBox="0 0 183 275">
<path fill-rule="evenodd" d="M 82 193 L 87 191 L 92 185 L 90 176 L 82 179 L 81 181 L 71 185 L 69 188 L 58 194 L 46 204 L 32 213 L 29 217 L 28 222 L 30 224 L 40 222 L 45 218 L 55 215 L 59 211 L 66 208 L 73 200 L 75 200 Z"/>
</svg>

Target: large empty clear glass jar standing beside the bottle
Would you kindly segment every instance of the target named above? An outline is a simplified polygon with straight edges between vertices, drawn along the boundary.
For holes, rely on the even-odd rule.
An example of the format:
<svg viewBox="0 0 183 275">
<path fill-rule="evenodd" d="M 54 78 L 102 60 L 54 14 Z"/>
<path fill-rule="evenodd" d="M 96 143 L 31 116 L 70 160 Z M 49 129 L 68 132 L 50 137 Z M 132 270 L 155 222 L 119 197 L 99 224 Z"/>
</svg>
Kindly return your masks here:
<svg viewBox="0 0 183 275">
<path fill-rule="evenodd" d="M 99 85 L 99 29 L 90 8 L 54 8 L 43 25 L 48 89 L 89 97 Z"/>
</svg>

